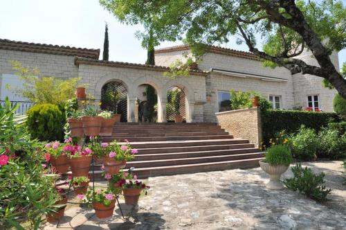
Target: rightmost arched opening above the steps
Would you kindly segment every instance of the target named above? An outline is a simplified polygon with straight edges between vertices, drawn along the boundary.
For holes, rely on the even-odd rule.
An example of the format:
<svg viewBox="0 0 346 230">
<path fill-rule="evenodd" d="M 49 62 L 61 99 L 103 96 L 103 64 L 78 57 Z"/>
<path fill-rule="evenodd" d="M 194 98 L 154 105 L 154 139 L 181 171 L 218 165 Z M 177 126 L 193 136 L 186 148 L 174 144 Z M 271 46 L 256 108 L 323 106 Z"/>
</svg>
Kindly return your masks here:
<svg viewBox="0 0 346 230">
<path fill-rule="evenodd" d="M 168 122 L 176 120 L 176 116 L 182 116 L 183 122 L 186 122 L 187 98 L 183 89 L 172 86 L 167 91 L 166 116 Z"/>
</svg>

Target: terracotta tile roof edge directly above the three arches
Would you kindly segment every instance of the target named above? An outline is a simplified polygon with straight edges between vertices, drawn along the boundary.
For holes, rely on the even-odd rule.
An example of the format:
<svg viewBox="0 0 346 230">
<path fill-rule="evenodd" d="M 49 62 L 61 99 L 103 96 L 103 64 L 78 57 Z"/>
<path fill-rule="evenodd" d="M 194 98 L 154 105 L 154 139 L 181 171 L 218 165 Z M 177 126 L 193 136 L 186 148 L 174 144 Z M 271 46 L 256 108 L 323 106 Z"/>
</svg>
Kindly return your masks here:
<svg viewBox="0 0 346 230">
<path fill-rule="evenodd" d="M 129 63 L 129 62 L 111 62 L 111 61 L 103 61 L 103 60 L 95 60 L 91 58 L 85 58 L 85 57 L 75 57 L 75 65 L 79 64 L 91 64 L 91 65 L 97 65 L 97 66 L 104 66 L 104 67 L 121 67 L 121 68 L 131 68 L 131 69 L 146 69 L 151 71 L 168 71 L 170 70 L 169 67 L 161 67 L 161 66 L 155 66 L 151 64 L 136 64 L 136 63 Z M 192 75 L 199 75 L 199 76 L 206 76 L 209 72 L 207 71 L 201 71 L 197 69 L 191 69 L 190 74 Z"/>
</svg>

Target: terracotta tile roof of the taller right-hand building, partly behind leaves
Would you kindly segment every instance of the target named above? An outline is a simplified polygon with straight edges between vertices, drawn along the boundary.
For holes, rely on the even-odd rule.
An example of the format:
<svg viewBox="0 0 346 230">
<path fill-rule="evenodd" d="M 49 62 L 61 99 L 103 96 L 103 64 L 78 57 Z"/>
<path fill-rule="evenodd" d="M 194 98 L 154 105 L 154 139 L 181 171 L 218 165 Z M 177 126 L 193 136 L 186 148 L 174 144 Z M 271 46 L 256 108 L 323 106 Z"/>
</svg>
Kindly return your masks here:
<svg viewBox="0 0 346 230">
<path fill-rule="evenodd" d="M 171 46 L 167 48 L 158 48 L 155 50 L 155 53 L 170 53 L 174 51 L 188 51 L 190 49 L 190 45 L 180 45 L 180 46 Z M 232 48 L 223 48 L 220 46 L 209 46 L 206 51 L 207 53 L 217 53 L 221 55 L 230 55 L 234 57 L 241 57 L 251 60 L 259 60 L 256 55 L 250 52 L 245 51 L 237 51 Z"/>
</svg>

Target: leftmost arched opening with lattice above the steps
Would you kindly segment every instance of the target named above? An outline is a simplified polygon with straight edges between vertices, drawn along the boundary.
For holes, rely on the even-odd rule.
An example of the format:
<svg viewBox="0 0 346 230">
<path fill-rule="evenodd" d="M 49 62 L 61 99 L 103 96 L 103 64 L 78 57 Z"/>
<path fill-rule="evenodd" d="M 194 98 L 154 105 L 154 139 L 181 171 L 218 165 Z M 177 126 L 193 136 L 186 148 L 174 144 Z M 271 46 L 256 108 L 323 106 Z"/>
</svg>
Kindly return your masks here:
<svg viewBox="0 0 346 230">
<path fill-rule="evenodd" d="M 102 86 L 101 109 L 121 114 L 120 122 L 127 122 L 127 88 L 120 80 L 112 80 Z"/>
</svg>

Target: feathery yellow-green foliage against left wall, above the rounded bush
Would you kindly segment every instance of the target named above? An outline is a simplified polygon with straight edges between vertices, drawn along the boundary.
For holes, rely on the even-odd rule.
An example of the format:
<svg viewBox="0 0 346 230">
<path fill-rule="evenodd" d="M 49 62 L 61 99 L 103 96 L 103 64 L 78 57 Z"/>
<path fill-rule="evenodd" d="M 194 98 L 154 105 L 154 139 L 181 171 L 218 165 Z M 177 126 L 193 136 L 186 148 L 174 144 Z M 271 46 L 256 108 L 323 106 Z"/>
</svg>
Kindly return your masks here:
<svg viewBox="0 0 346 230">
<path fill-rule="evenodd" d="M 13 70 L 17 71 L 19 79 L 23 81 L 23 88 L 13 88 L 16 94 L 28 98 L 35 104 L 51 103 L 64 106 L 66 100 L 74 98 L 75 87 L 80 78 L 59 79 L 41 76 L 39 69 L 23 67 L 20 62 L 12 61 Z"/>
</svg>

